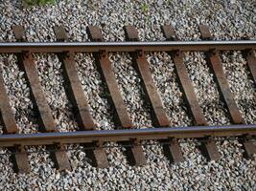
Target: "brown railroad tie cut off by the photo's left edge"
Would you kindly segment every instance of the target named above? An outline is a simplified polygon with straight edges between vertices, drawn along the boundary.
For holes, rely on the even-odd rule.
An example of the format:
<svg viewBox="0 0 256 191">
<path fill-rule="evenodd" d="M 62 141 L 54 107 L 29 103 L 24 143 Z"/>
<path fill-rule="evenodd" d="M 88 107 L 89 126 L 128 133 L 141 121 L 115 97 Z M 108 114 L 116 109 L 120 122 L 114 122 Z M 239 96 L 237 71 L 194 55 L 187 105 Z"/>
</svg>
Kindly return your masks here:
<svg viewBox="0 0 256 191">
<path fill-rule="evenodd" d="M 15 117 L 12 113 L 10 100 L 5 89 L 2 69 L 0 69 L 0 117 L 4 125 L 4 134 L 18 134 Z M 10 150 L 13 152 L 11 159 L 14 171 L 18 173 L 29 173 L 30 164 L 25 148 L 22 145 L 16 145 L 10 147 Z"/>
</svg>

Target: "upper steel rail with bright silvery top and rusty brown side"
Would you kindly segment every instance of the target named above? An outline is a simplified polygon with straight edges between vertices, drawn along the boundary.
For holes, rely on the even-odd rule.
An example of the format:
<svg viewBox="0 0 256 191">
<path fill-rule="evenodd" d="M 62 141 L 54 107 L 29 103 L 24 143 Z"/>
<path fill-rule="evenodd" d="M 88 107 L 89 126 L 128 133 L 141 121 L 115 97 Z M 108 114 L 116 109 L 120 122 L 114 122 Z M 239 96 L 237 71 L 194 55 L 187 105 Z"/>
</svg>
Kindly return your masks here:
<svg viewBox="0 0 256 191">
<path fill-rule="evenodd" d="M 0 53 L 95 53 L 95 52 L 205 52 L 256 49 L 256 40 L 161 41 L 161 42 L 10 42 L 0 43 Z"/>
</svg>

